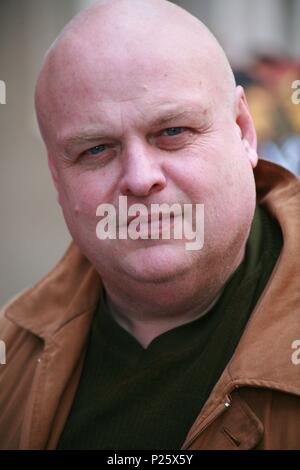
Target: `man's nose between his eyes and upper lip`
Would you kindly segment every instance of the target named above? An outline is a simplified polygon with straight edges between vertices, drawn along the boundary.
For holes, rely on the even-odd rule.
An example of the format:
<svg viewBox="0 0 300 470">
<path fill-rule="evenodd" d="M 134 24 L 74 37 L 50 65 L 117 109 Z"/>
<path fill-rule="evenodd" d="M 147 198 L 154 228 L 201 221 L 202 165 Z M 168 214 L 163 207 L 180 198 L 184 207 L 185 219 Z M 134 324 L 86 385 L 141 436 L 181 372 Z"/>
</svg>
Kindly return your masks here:
<svg viewBox="0 0 300 470">
<path fill-rule="evenodd" d="M 161 191 L 166 177 L 155 150 L 146 144 L 131 145 L 123 159 L 120 191 L 125 196 L 145 197 Z"/>
</svg>

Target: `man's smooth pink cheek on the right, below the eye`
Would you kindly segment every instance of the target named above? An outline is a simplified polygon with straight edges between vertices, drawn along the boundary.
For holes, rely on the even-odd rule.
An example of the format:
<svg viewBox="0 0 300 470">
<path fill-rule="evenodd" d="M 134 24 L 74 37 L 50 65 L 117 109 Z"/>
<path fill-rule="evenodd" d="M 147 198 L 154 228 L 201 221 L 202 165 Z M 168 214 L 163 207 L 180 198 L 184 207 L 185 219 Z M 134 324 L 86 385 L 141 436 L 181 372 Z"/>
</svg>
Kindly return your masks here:
<svg viewBox="0 0 300 470">
<path fill-rule="evenodd" d="M 240 139 L 226 133 L 201 140 L 176 160 L 169 173 L 191 202 L 203 203 L 208 212 L 230 213 L 253 203 L 251 164 Z"/>
</svg>

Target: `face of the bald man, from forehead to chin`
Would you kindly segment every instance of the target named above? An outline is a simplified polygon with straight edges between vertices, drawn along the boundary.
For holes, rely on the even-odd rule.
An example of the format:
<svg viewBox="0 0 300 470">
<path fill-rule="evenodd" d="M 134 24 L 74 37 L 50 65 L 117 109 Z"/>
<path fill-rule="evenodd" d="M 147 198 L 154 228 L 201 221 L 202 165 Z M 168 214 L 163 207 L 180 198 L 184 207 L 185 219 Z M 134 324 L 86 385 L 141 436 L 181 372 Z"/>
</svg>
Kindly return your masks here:
<svg viewBox="0 0 300 470">
<path fill-rule="evenodd" d="M 234 110 L 205 67 L 125 62 L 86 60 L 71 81 L 61 77 L 49 159 L 66 223 L 104 279 L 163 281 L 193 266 L 212 276 L 227 259 L 240 261 L 255 204 L 236 122 L 241 100 Z M 184 238 L 99 240 L 96 209 L 117 209 L 119 196 L 149 209 L 204 204 L 204 247 L 187 251 Z"/>
</svg>

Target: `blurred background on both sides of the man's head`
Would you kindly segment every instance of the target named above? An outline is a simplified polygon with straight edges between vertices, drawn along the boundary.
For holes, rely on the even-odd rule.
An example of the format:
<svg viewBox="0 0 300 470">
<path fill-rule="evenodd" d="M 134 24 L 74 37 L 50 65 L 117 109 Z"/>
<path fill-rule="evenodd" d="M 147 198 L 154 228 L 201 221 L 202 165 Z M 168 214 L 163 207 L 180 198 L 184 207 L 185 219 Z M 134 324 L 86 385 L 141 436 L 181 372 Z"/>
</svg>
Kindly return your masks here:
<svg viewBox="0 0 300 470">
<path fill-rule="evenodd" d="M 70 242 L 33 92 L 44 53 L 92 3 L 0 0 L 0 80 L 6 84 L 6 104 L 0 104 L 0 305 L 47 273 Z M 300 80 L 300 0 L 173 3 L 201 18 L 221 42 L 246 88 L 260 154 L 300 176 L 300 104 L 291 101 L 292 82 Z"/>
</svg>

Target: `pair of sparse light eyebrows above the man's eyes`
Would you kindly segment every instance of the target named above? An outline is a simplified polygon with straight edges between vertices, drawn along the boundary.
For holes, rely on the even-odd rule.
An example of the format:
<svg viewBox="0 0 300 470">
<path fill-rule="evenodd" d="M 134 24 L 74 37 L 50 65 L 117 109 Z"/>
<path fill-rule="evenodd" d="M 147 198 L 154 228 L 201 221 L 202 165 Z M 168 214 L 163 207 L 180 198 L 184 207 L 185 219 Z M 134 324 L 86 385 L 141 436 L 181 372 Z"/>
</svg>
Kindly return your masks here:
<svg viewBox="0 0 300 470">
<path fill-rule="evenodd" d="M 169 122 L 175 119 L 183 119 L 183 118 L 199 118 L 199 115 L 202 117 L 207 114 L 207 108 L 197 106 L 197 105 L 189 105 L 187 109 L 182 109 L 183 106 L 178 108 L 174 108 L 174 110 L 166 111 L 166 114 L 162 115 L 161 117 L 154 118 L 152 121 L 149 122 L 150 127 L 157 127 L 166 125 Z M 91 131 L 86 131 L 82 133 L 78 133 L 74 136 L 65 138 L 61 140 L 61 144 L 66 148 L 70 149 L 76 145 L 82 145 L 84 143 L 94 143 L 102 139 L 107 139 L 110 135 L 110 132 L 103 132 L 102 130 L 96 131 L 95 129 Z"/>
</svg>

